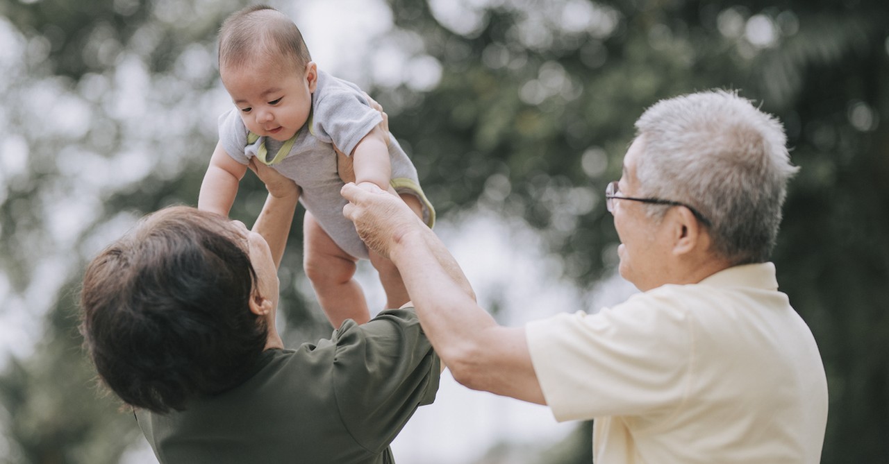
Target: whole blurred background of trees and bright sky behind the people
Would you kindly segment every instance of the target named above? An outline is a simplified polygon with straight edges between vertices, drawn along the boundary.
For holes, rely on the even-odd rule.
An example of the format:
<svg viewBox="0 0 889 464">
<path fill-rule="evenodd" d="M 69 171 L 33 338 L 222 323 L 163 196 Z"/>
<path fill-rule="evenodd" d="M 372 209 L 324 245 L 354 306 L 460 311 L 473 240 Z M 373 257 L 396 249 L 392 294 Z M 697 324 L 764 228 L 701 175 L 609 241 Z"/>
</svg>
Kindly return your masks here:
<svg viewBox="0 0 889 464">
<path fill-rule="evenodd" d="M 215 38 L 244 0 L 0 2 L 0 462 L 148 463 L 76 331 L 84 263 L 196 204 L 230 102 Z M 889 3 L 274 0 L 318 66 L 386 108 L 438 232 L 505 324 L 620 302 L 605 185 L 632 123 L 709 88 L 784 122 L 802 167 L 774 253 L 827 369 L 825 463 L 889 462 Z M 255 179 L 232 216 L 251 224 Z M 330 334 L 284 256 L 289 346 Z M 382 304 L 369 265 L 361 280 Z M 420 464 L 589 463 L 589 423 L 445 376 L 394 444 Z"/>
</svg>

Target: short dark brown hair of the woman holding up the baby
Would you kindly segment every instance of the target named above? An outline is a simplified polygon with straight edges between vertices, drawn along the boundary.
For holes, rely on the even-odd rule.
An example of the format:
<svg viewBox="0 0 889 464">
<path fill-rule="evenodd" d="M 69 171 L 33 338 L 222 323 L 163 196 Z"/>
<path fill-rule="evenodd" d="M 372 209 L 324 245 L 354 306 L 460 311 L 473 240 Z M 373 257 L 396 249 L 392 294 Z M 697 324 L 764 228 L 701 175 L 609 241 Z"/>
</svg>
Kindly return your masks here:
<svg viewBox="0 0 889 464">
<path fill-rule="evenodd" d="M 255 282 L 226 218 L 187 207 L 145 217 L 84 274 L 80 329 L 101 379 L 158 413 L 240 384 L 268 337 L 249 307 Z"/>
</svg>

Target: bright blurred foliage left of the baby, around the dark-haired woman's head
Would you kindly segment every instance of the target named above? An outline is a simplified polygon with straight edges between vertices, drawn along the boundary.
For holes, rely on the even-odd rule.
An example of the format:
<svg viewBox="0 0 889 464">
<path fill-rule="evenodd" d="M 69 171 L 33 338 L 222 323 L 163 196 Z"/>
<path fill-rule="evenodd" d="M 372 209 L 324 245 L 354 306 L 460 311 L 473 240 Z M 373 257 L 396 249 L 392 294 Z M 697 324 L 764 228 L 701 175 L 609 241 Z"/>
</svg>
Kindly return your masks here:
<svg viewBox="0 0 889 464">
<path fill-rule="evenodd" d="M 117 462 L 140 436 L 81 350 L 79 279 L 137 217 L 196 203 L 226 102 L 212 95 L 215 33 L 243 4 L 0 4 L 0 316 L 46 319 L 0 376 L 0 462 Z M 232 216 L 250 224 L 263 200 L 247 178 Z M 284 265 L 300 269 L 293 233 Z M 295 286 L 281 307 L 289 341 L 329 334 Z"/>
</svg>

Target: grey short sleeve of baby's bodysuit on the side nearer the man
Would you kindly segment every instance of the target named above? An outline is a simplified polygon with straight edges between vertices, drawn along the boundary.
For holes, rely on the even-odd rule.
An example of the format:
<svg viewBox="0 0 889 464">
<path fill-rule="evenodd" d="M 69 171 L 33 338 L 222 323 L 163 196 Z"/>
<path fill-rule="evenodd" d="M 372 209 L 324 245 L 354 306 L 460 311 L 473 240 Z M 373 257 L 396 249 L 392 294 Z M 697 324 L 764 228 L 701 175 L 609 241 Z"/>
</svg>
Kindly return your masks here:
<svg viewBox="0 0 889 464">
<path fill-rule="evenodd" d="M 364 97 L 350 90 L 327 92 L 315 103 L 312 113 L 315 136 L 336 145 L 347 156 L 383 120 Z"/>
</svg>

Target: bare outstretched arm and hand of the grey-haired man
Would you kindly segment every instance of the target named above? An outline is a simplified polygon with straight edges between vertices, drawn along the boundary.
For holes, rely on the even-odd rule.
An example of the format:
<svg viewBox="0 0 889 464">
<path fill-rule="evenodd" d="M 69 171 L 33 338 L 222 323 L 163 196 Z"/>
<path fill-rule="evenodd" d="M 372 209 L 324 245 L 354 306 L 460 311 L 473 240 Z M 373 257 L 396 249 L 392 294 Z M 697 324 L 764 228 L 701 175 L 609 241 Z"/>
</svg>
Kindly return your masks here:
<svg viewBox="0 0 889 464">
<path fill-rule="evenodd" d="M 420 324 L 454 378 L 470 389 L 544 404 L 524 327 L 499 326 L 478 306 L 469 281 L 410 208 L 370 185 L 347 184 L 344 214 L 368 247 L 401 272 Z"/>
</svg>

